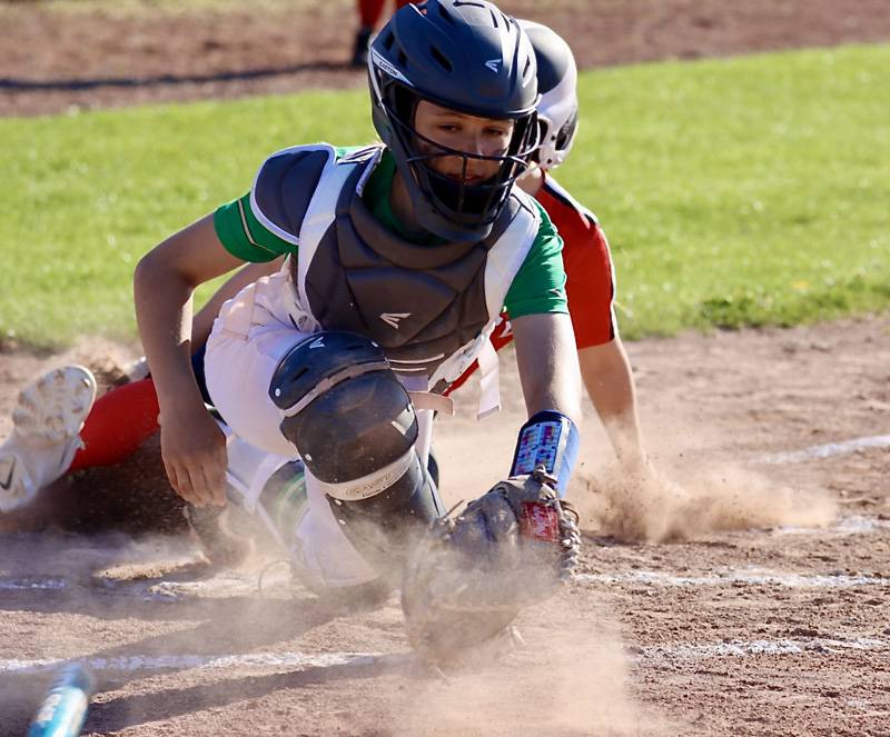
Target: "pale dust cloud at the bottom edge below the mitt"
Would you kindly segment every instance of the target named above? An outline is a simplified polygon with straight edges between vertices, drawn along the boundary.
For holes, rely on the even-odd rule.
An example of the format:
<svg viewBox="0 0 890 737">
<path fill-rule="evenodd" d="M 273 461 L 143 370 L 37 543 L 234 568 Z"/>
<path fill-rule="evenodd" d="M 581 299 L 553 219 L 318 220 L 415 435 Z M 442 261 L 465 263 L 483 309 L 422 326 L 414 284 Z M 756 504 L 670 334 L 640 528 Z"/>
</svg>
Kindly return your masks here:
<svg viewBox="0 0 890 737">
<path fill-rule="evenodd" d="M 392 735 L 670 734 L 629 693 L 615 633 L 580 619 L 550 625 L 500 661 L 406 689 L 395 704 Z"/>
</svg>

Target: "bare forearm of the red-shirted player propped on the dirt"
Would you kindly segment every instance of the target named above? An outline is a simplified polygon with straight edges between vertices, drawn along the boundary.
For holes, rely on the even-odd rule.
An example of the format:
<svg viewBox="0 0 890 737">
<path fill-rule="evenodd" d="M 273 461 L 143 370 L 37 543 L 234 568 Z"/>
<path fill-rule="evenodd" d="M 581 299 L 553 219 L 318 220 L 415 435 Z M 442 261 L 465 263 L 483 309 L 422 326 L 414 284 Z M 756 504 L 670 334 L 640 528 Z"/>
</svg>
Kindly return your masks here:
<svg viewBox="0 0 890 737">
<path fill-rule="evenodd" d="M 578 360 L 584 386 L 619 460 L 630 467 L 644 464 L 633 374 L 621 341 L 584 348 Z"/>
</svg>

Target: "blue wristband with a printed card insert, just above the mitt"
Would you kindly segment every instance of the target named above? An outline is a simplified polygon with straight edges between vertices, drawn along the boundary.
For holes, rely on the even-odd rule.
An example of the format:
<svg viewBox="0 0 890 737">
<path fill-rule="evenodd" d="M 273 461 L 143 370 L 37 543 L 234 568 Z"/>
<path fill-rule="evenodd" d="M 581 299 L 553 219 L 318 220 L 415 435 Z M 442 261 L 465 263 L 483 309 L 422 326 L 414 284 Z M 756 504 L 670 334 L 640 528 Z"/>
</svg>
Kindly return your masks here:
<svg viewBox="0 0 890 737">
<path fill-rule="evenodd" d="M 577 427 L 566 415 L 555 409 L 537 412 L 520 429 L 510 475 L 525 476 L 543 466 L 556 479 L 560 497 L 564 497 L 580 442 Z"/>
</svg>

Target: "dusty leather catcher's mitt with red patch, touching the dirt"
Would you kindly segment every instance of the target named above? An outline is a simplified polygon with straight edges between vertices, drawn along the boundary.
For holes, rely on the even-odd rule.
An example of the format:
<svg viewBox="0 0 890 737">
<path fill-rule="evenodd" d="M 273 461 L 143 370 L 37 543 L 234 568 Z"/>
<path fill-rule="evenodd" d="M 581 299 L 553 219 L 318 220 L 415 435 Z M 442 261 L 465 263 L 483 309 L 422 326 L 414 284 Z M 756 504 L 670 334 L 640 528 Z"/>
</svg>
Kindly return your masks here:
<svg viewBox="0 0 890 737">
<path fill-rule="evenodd" d="M 456 518 L 431 526 L 408 557 L 402 608 L 408 639 L 432 663 L 510 633 L 524 607 L 567 581 L 577 564 L 577 514 L 543 467 L 496 484 Z"/>
</svg>

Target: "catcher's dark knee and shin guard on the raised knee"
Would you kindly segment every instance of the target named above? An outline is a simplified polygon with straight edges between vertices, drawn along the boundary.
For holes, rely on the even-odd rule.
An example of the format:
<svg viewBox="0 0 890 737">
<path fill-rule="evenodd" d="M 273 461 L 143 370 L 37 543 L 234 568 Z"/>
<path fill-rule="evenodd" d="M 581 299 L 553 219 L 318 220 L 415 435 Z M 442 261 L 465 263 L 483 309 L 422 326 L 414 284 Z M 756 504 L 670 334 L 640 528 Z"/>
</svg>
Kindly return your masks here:
<svg viewBox="0 0 890 737">
<path fill-rule="evenodd" d="M 316 333 L 281 359 L 269 394 L 346 536 L 375 568 L 392 569 L 406 532 L 443 508 L 415 450 L 411 398 L 380 347 L 353 332 Z"/>
</svg>

